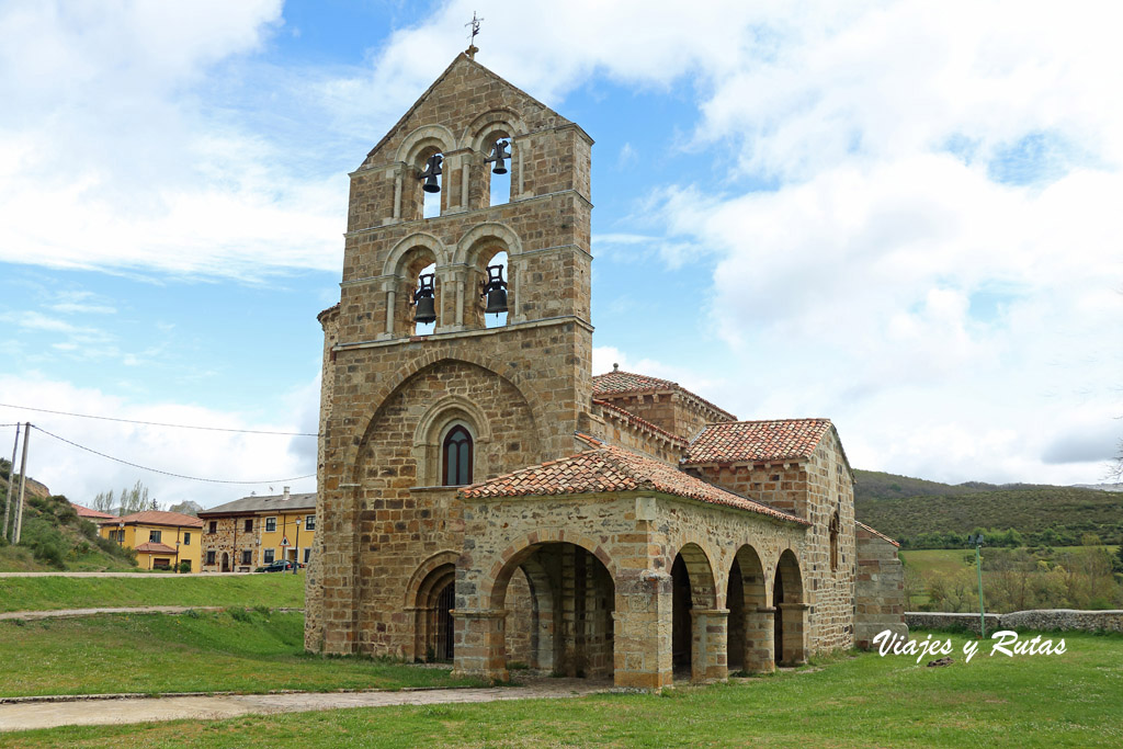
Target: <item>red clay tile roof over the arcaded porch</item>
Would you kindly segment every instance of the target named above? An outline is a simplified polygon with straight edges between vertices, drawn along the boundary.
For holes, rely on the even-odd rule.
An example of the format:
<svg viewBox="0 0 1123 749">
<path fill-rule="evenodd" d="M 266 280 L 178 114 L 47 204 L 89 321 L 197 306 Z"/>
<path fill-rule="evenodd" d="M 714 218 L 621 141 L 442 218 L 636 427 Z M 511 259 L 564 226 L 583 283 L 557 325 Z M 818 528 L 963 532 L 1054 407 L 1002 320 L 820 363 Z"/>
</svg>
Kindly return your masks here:
<svg viewBox="0 0 1123 749">
<path fill-rule="evenodd" d="M 584 435 L 578 435 L 578 438 L 595 447 L 560 460 L 550 460 L 465 486 L 459 494 L 465 497 L 497 497 L 593 492 L 659 492 L 738 508 L 776 520 L 810 524 L 775 508 L 707 484 L 660 460 L 599 442 Z"/>
</svg>

